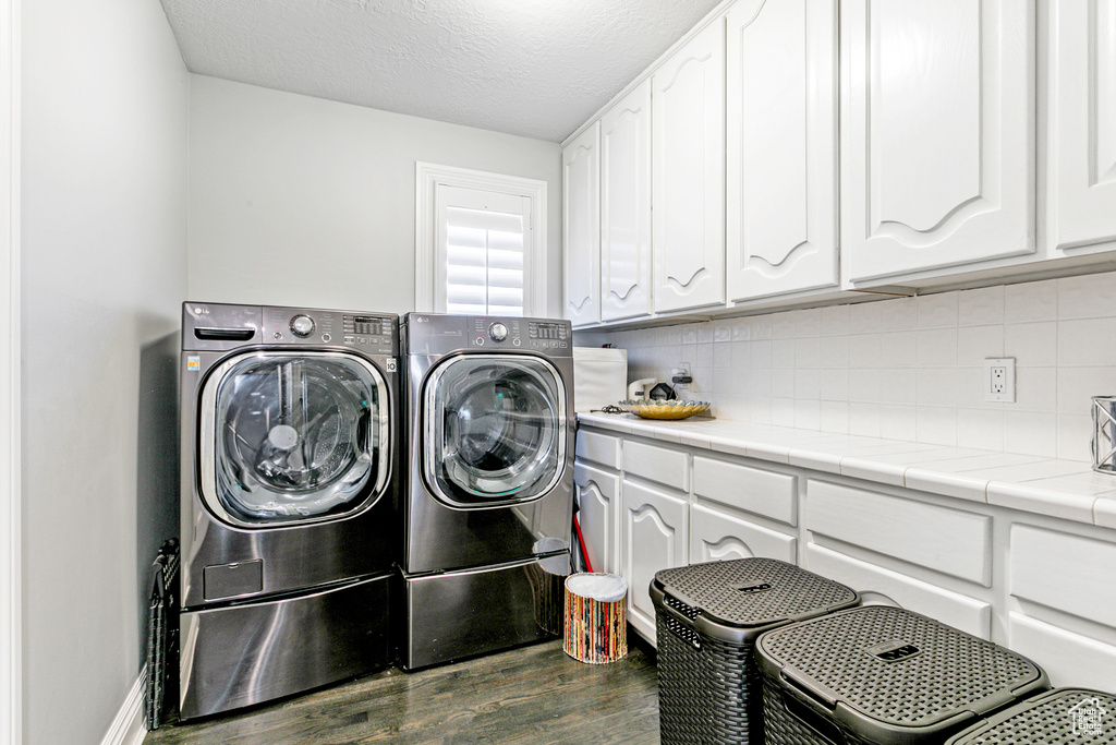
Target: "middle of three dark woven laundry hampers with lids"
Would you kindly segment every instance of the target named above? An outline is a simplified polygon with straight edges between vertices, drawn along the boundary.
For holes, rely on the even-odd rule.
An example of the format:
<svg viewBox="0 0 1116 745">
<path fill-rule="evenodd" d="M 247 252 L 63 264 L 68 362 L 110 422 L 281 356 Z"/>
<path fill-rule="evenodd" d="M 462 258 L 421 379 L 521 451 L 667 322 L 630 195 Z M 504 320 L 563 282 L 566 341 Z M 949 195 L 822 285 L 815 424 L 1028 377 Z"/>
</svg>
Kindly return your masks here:
<svg viewBox="0 0 1116 745">
<path fill-rule="evenodd" d="M 756 642 L 768 745 L 942 743 L 1046 690 L 1046 672 L 899 608 L 793 623 Z"/>
</svg>

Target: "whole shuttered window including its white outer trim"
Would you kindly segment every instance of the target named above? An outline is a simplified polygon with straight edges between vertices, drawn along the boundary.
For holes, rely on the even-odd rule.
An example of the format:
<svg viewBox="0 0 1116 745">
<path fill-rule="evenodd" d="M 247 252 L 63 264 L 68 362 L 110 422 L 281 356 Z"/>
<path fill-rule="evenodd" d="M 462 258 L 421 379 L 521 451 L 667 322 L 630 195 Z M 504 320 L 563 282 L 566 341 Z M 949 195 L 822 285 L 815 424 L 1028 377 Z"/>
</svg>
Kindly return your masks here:
<svg viewBox="0 0 1116 745">
<path fill-rule="evenodd" d="M 419 163 L 415 309 L 545 315 L 546 187 Z"/>
</svg>

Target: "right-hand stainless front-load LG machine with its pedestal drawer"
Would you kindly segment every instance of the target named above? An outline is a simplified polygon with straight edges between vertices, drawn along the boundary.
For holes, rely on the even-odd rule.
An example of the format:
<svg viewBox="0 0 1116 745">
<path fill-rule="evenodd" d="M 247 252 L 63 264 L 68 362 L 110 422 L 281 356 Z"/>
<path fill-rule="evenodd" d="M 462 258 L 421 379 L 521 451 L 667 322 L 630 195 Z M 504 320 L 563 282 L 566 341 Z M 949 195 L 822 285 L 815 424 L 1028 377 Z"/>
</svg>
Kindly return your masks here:
<svg viewBox="0 0 1116 745">
<path fill-rule="evenodd" d="M 412 313 L 401 336 L 411 448 L 403 667 L 551 638 L 532 579 L 540 565 L 569 567 L 570 324 Z"/>
</svg>

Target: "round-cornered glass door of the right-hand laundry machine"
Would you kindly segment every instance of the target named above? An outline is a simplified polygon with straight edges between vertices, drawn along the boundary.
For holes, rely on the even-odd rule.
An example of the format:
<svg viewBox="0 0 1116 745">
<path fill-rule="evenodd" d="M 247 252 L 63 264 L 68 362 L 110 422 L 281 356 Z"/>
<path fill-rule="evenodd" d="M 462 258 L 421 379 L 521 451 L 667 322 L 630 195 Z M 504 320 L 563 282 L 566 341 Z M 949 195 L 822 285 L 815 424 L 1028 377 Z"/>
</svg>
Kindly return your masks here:
<svg viewBox="0 0 1116 745">
<path fill-rule="evenodd" d="M 469 355 L 426 381 L 424 475 L 435 498 L 496 507 L 546 495 L 566 461 L 566 386 L 529 356 Z"/>
</svg>

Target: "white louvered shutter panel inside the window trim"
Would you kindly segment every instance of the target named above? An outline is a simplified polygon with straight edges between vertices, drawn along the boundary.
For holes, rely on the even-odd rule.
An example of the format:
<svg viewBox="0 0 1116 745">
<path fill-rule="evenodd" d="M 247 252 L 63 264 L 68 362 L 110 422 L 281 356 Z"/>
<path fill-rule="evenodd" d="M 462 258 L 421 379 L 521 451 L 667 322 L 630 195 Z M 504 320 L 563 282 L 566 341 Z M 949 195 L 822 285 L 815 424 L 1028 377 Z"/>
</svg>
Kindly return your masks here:
<svg viewBox="0 0 1116 745">
<path fill-rule="evenodd" d="M 435 302 L 445 313 L 522 316 L 529 200 L 440 184 L 439 245 L 444 247 Z"/>
</svg>

